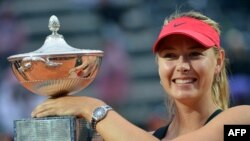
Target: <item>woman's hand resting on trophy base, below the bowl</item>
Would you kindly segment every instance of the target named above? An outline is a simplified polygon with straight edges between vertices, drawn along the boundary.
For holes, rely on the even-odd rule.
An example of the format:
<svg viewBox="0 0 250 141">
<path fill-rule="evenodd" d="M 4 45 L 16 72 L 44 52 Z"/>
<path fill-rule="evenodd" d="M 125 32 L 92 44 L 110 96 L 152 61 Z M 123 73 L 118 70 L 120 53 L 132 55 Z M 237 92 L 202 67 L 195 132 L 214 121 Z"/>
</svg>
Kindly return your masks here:
<svg viewBox="0 0 250 141">
<path fill-rule="evenodd" d="M 92 111 L 105 103 L 86 96 L 64 96 L 50 98 L 38 105 L 32 112 L 32 117 L 74 115 L 91 119 Z"/>
</svg>

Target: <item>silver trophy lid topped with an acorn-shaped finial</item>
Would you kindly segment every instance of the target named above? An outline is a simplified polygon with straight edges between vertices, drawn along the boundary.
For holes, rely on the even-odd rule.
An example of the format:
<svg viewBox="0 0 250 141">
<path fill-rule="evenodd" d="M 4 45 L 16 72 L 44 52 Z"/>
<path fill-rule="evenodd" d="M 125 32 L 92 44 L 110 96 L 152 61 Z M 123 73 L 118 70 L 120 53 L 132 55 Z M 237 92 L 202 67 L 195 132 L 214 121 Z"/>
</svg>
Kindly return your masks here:
<svg viewBox="0 0 250 141">
<path fill-rule="evenodd" d="M 85 54 L 85 55 L 97 55 L 103 56 L 103 51 L 100 50 L 87 50 L 87 49 L 78 49 L 74 48 L 67 44 L 63 36 L 58 34 L 57 31 L 60 28 L 60 22 L 55 15 L 52 15 L 49 19 L 48 24 L 49 30 L 52 31 L 52 34 L 46 37 L 46 40 L 42 47 L 38 50 L 17 54 L 8 57 L 8 60 L 17 60 L 24 57 L 30 56 L 67 56 L 67 55 L 76 55 L 76 54 Z"/>
</svg>

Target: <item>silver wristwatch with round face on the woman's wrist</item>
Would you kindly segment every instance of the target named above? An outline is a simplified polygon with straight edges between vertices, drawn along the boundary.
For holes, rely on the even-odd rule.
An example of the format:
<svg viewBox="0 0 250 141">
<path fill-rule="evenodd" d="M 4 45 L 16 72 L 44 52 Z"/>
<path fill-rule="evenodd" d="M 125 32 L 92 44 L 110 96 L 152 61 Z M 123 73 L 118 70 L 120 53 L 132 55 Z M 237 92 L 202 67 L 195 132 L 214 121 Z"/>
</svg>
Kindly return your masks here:
<svg viewBox="0 0 250 141">
<path fill-rule="evenodd" d="M 108 111 L 112 110 L 112 108 L 109 105 L 104 105 L 97 107 L 93 114 L 92 114 L 92 119 L 91 119 L 91 126 L 92 129 L 96 129 L 96 124 L 104 119 L 108 113 Z"/>
</svg>

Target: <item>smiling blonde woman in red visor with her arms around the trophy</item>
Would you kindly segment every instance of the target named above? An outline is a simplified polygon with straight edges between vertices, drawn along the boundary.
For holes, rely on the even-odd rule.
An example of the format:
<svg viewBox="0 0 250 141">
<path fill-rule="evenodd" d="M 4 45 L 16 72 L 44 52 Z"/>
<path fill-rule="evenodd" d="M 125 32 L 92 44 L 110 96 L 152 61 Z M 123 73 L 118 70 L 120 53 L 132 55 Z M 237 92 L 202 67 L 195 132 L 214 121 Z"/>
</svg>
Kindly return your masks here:
<svg viewBox="0 0 250 141">
<path fill-rule="evenodd" d="M 96 116 L 97 107 L 106 104 L 90 97 L 49 99 L 32 116 L 84 117 L 106 141 L 223 140 L 224 124 L 250 123 L 250 106 L 227 109 L 225 52 L 219 32 L 216 22 L 197 12 L 174 15 L 165 22 L 153 52 L 172 120 L 153 134 L 129 123 L 109 106 Z M 245 116 L 237 117 L 239 114 Z"/>
</svg>

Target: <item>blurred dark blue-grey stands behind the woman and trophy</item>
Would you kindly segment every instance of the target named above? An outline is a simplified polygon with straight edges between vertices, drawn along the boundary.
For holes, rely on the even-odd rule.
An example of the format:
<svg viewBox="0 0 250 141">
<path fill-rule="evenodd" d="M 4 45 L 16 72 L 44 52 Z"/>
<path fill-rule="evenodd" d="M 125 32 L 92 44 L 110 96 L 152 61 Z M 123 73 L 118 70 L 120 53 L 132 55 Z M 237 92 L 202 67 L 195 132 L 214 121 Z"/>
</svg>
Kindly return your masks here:
<svg viewBox="0 0 250 141">
<path fill-rule="evenodd" d="M 1 0 L 0 141 L 11 141 L 13 120 L 30 118 L 46 99 L 19 84 L 7 57 L 40 48 L 51 34 L 51 15 L 69 45 L 105 52 L 96 80 L 78 95 L 103 99 L 132 123 L 154 130 L 167 116 L 151 51 L 165 17 L 196 10 L 220 23 L 234 106 L 250 104 L 249 7 L 248 0 Z"/>
</svg>

